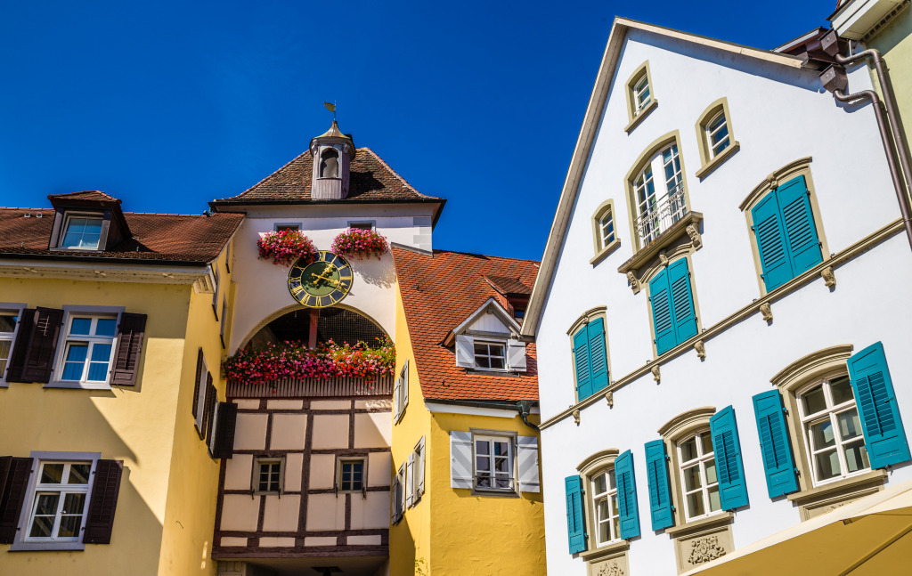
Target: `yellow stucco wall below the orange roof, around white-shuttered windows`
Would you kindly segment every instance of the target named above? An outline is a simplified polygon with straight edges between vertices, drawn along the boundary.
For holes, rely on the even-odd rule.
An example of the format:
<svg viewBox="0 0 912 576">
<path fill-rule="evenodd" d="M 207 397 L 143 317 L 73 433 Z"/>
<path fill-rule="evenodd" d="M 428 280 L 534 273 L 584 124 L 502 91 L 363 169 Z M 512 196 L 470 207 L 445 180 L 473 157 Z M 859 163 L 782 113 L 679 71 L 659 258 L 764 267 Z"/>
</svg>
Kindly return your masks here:
<svg viewBox="0 0 912 576">
<path fill-rule="evenodd" d="M 431 414 L 424 404 L 397 286 L 397 374 L 409 360 L 409 406 L 393 427 L 393 474 L 425 437 L 425 493 L 389 532 L 390 574 L 544 574 L 542 493 L 474 496 L 450 487 L 450 431 L 485 428 L 537 436 L 517 417 Z M 536 417 L 530 418 L 537 423 Z M 432 544 L 431 544 L 432 542 Z M 419 561 L 416 568 L 415 561 Z"/>
</svg>

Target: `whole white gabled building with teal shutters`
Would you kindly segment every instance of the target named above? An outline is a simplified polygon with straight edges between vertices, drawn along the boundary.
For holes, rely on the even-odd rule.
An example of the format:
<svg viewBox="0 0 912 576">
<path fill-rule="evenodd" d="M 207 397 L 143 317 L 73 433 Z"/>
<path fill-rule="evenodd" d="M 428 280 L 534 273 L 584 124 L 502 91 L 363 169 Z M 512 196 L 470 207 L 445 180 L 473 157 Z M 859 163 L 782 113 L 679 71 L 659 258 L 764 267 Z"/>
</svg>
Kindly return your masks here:
<svg viewBox="0 0 912 576">
<path fill-rule="evenodd" d="M 615 21 L 523 324 L 549 573 L 700 571 L 912 478 L 912 253 L 819 74 Z"/>
</svg>

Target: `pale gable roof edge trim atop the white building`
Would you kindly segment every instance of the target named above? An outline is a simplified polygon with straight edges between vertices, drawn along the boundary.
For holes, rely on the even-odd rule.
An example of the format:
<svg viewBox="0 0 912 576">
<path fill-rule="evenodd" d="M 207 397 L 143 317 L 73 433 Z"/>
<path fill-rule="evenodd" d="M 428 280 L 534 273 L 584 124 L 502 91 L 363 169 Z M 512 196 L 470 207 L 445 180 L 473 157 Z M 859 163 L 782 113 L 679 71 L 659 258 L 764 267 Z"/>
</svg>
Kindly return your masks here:
<svg viewBox="0 0 912 576">
<path fill-rule="evenodd" d="M 605 54 L 602 56 L 602 63 L 598 67 L 596 84 L 592 88 L 592 95 L 589 97 L 589 104 L 586 106 L 583 127 L 580 129 L 579 136 L 576 139 L 573 157 L 570 159 L 570 167 L 564 180 L 564 188 L 561 190 L 561 197 L 557 202 L 557 211 L 554 213 L 551 231 L 548 234 L 547 242 L 545 242 L 541 271 L 535 280 L 529 307 L 526 309 L 525 319 L 523 320 L 523 334 L 525 335 L 534 335 L 537 329 L 542 307 L 544 306 L 544 299 L 554 276 L 557 257 L 564 242 L 567 228 L 570 225 L 570 216 L 573 213 L 576 195 L 579 193 L 579 186 L 586 169 L 586 161 L 589 159 L 589 153 L 596 139 L 596 132 L 602 119 L 602 113 L 605 110 L 609 88 L 612 86 L 617 73 L 617 61 L 621 57 L 624 40 L 630 30 L 642 30 L 658 36 L 666 36 L 683 42 L 708 46 L 722 52 L 741 57 L 756 58 L 784 67 L 802 67 L 803 60 L 799 57 L 751 46 L 741 46 L 724 40 L 689 34 L 664 26 L 628 20 L 627 18 L 615 18 L 614 24 L 611 26 L 611 33 L 608 36 Z"/>
</svg>

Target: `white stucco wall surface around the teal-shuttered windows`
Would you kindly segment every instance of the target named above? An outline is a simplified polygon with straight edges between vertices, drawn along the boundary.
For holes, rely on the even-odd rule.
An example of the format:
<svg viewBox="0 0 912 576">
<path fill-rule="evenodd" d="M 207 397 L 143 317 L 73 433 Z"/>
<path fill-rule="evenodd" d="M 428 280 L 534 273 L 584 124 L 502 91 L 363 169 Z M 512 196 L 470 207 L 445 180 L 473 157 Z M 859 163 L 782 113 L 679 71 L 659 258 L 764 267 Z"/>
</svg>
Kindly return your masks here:
<svg viewBox="0 0 912 576">
<path fill-rule="evenodd" d="M 658 108 L 629 135 L 627 78 L 649 61 Z M 864 69 L 850 74 L 850 90 L 870 87 Z M 741 150 L 703 181 L 695 123 L 711 102 L 728 98 L 734 138 Z M 839 252 L 899 216 L 884 150 L 870 106 L 837 105 L 820 88 L 814 71 L 786 68 L 705 46 L 631 31 L 617 64 L 596 143 L 586 166 L 554 283 L 536 334 L 542 419 L 575 403 L 570 337 L 575 320 L 606 305 L 611 379 L 650 361 L 652 334 L 648 293 L 634 294 L 617 267 L 633 254 L 625 177 L 639 154 L 658 137 L 680 131 L 679 153 L 690 210 L 704 215 L 703 247 L 692 256 L 700 324 L 717 324 L 760 297 L 750 231 L 738 206 L 773 170 L 812 156 L 814 190 L 830 252 Z M 658 175 L 657 175 L 658 179 Z M 658 184 L 658 183 L 657 183 Z M 614 199 L 621 246 L 595 266 L 591 217 Z M 642 536 L 630 544 L 632 574 L 673 574 L 673 540 L 651 530 L 644 444 L 658 438 L 671 417 L 700 406 L 734 406 L 741 435 L 751 505 L 737 511 L 735 545 L 741 547 L 799 521 L 798 510 L 767 495 L 751 396 L 770 389 L 770 378 L 803 355 L 853 344 L 855 351 L 883 341 L 903 419 L 912 427 L 912 322 L 908 294 L 912 254 L 897 234 L 839 266 L 834 291 L 823 280 L 772 303 L 771 325 L 755 314 L 706 341 L 707 357 L 695 352 L 661 365 L 652 375 L 582 410 L 581 424 L 566 418 L 542 432 L 548 572 L 585 574 L 586 564 L 567 551 L 564 478 L 588 456 L 608 447 L 633 451 Z M 889 483 L 912 478 L 898 467 Z"/>
</svg>

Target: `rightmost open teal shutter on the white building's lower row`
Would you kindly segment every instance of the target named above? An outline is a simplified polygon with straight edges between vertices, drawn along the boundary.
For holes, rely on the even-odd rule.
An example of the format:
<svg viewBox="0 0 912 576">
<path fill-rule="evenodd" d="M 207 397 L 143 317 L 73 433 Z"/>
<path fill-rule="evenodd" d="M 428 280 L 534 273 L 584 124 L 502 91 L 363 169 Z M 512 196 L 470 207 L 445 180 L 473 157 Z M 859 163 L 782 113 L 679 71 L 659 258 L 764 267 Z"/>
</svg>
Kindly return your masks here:
<svg viewBox="0 0 912 576">
<path fill-rule="evenodd" d="M 886 367 L 884 345 L 878 342 L 852 355 L 848 366 L 871 468 L 906 462 L 912 457 Z"/>
</svg>

